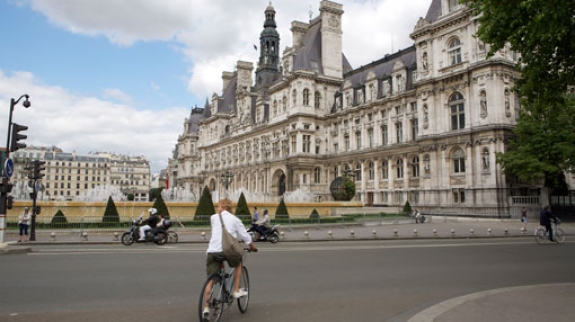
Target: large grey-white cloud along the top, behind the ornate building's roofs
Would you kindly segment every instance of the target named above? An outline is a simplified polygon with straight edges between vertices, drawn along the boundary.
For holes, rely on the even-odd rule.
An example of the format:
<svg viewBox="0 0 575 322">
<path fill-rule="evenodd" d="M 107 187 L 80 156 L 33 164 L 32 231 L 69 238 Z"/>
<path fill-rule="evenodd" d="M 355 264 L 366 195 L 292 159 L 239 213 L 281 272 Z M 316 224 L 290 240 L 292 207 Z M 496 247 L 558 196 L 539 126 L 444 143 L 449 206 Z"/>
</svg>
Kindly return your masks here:
<svg viewBox="0 0 575 322">
<path fill-rule="evenodd" d="M 342 0 L 343 51 L 354 68 L 413 44 L 409 34 L 432 0 Z M 319 0 L 276 0 L 281 47 L 291 46 L 291 22 L 319 15 Z M 238 60 L 255 62 L 269 0 L 32 0 L 32 7 L 74 33 L 103 35 L 112 43 L 176 42 L 189 63 L 188 89 L 196 97 L 220 93 L 221 72 Z M 393 47 L 393 48 L 392 48 Z"/>
</svg>

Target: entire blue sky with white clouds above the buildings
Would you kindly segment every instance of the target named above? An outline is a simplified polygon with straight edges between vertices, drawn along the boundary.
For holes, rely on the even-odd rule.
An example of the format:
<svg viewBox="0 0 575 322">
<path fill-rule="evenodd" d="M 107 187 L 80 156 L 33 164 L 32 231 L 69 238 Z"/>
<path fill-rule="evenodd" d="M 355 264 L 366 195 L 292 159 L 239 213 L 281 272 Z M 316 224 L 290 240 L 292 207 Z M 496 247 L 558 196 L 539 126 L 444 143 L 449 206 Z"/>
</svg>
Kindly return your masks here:
<svg viewBox="0 0 575 322">
<path fill-rule="evenodd" d="M 353 68 L 413 45 L 432 0 L 340 0 Z M 280 48 L 319 0 L 274 0 Z M 223 71 L 256 65 L 269 0 L 0 0 L 0 146 L 10 100 L 29 146 L 168 164 L 191 108 L 221 95 Z"/>
</svg>

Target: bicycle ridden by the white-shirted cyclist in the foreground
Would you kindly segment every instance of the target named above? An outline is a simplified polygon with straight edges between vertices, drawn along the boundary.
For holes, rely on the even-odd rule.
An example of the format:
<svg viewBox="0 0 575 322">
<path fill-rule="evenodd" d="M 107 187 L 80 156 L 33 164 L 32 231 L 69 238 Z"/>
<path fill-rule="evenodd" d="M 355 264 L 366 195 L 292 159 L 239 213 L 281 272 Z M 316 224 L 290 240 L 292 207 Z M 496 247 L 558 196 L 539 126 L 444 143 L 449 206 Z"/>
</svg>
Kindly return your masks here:
<svg viewBox="0 0 575 322">
<path fill-rule="evenodd" d="M 245 258 L 245 253 L 244 253 Z M 223 257 L 218 258 L 218 261 L 221 260 L 221 269 L 219 274 L 213 274 L 208 277 L 204 286 L 202 287 L 202 292 L 200 293 L 200 302 L 198 306 L 198 312 L 200 315 L 200 322 L 219 322 L 222 318 L 222 314 L 224 312 L 224 308 L 227 304 L 228 308 L 234 304 L 234 300 L 237 300 L 238 309 L 241 313 L 246 313 L 248 310 L 248 304 L 250 300 L 250 279 L 248 275 L 248 269 L 245 266 L 245 261 L 242 261 L 242 277 L 240 279 L 240 289 L 243 289 L 247 292 L 247 295 L 242 296 L 238 299 L 235 299 L 232 296 L 232 290 L 234 289 L 234 272 L 235 267 L 232 268 L 229 272 L 226 270 L 226 264 L 224 263 L 225 260 Z M 206 288 L 208 285 L 212 285 L 212 291 L 209 292 L 207 301 L 204 298 L 206 294 Z M 208 303 L 210 308 L 210 314 L 208 319 L 204 318 L 203 310 L 205 303 Z"/>
</svg>

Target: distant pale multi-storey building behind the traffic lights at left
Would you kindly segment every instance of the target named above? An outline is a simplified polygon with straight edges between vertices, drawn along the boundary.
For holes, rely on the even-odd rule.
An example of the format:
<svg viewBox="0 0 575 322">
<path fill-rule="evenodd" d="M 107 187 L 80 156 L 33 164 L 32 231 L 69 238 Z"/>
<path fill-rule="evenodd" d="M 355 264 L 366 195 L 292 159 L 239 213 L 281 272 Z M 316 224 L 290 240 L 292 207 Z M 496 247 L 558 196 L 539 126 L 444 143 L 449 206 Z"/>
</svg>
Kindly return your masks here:
<svg viewBox="0 0 575 322">
<path fill-rule="evenodd" d="M 78 155 L 57 147 L 27 147 L 13 152 L 15 174 L 12 196 L 29 199 L 31 182 L 26 170 L 34 160 L 45 161 L 44 177 L 39 180 L 38 199 L 105 200 L 115 191 L 122 197 L 134 195 L 147 201 L 150 190 L 150 165 L 144 157 L 130 157 L 105 152 Z M 114 191 L 112 191 L 114 190 Z"/>
</svg>

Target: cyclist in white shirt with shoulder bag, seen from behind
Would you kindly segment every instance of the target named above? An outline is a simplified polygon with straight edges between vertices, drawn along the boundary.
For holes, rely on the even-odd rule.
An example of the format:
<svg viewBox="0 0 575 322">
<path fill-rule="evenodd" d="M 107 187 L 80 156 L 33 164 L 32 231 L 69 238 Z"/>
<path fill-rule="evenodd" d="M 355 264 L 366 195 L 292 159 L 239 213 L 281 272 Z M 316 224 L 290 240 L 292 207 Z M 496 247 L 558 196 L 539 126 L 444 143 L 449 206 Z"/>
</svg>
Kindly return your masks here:
<svg viewBox="0 0 575 322">
<path fill-rule="evenodd" d="M 254 243 L 252 243 L 252 239 L 250 235 L 246 232 L 246 228 L 242 221 L 234 216 L 232 213 L 232 202 L 229 199 L 222 199 L 218 203 L 217 212 L 222 215 L 222 219 L 226 226 L 226 229 L 232 236 L 243 240 L 246 245 L 249 246 L 250 252 L 257 252 L 258 249 Z M 222 224 L 220 221 L 220 216 L 218 214 L 212 215 L 210 218 L 210 224 L 212 226 L 212 237 L 210 238 L 210 243 L 208 245 L 207 258 L 206 258 L 206 273 L 208 276 L 212 274 L 217 274 L 220 271 L 221 267 L 221 259 L 225 259 L 225 255 L 222 252 Z M 226 259 L 225 259 L 226 260 Z M 234 270 L 234 289 L 232 296 L 234 298 L 240 298 L 243 296 L 248 295 L 246 290 L 240 290 L 240 279 L 242 273 L 242 262 L 231 262 L 228 261 L 230 267 L 235 267 Z M 213 285 L 209 285 L 205 289 L 204 298 L 208 299 L 208 294 L 211 292 Z M 204 309 L 202 315 L 204 320 L 208 319 L 210 314 L 210 309 L 208 303 L 204 303 Z"/>
</svg>

